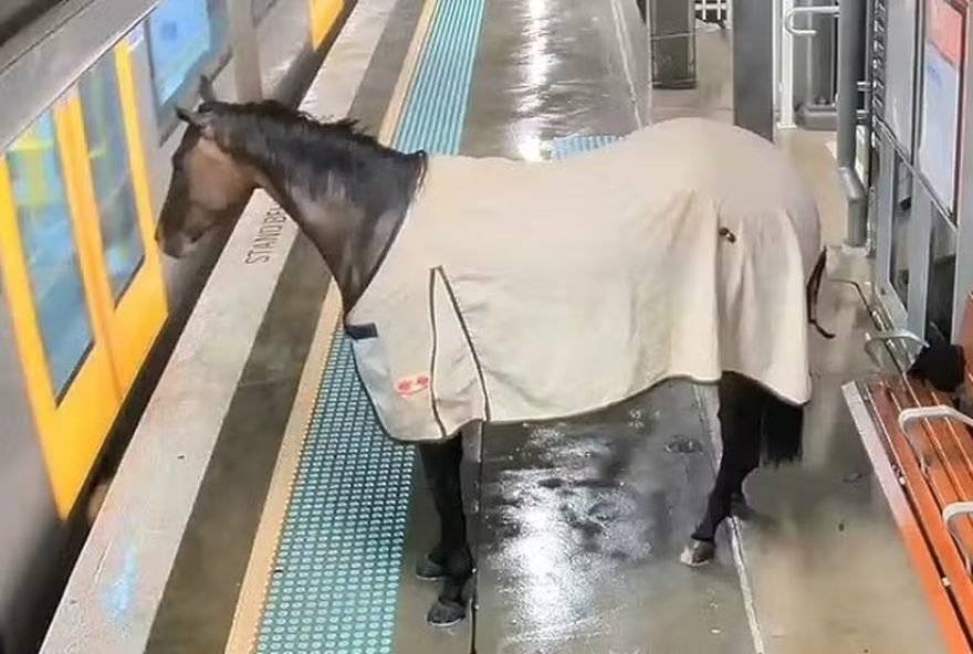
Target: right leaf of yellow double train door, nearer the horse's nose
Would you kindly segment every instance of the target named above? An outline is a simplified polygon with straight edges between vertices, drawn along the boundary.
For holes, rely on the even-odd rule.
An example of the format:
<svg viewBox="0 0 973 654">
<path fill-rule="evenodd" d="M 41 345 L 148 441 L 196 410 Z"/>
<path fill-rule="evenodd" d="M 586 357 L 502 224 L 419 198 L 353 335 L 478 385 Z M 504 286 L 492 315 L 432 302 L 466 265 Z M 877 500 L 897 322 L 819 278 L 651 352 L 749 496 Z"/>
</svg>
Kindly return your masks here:
<svg viewBox="0 0 973 654">
<path fill-rule="evenodd" d="M 83 159 L 77 166 L 83 211 L 95 228 L 86 232 L 85 246 L 94 253 L 98 304 L 124 398 L 166 317 L 126 44 L 81 78 L 77 96 L 70 113 L 72 151 Z"/>
</svg>

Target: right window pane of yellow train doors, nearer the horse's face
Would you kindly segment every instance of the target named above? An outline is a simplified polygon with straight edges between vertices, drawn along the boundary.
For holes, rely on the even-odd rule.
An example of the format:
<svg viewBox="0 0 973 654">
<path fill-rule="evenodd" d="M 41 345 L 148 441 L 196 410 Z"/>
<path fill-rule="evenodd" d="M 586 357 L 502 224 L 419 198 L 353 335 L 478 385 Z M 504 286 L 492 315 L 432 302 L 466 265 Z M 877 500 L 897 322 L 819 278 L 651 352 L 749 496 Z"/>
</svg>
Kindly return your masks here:
<svg viewBox="0 0 973 654">
<path fill-rule="evenodd" d="M 81 78 L 81 101 L 105 267 L 117 304 L 138 271 L 145 250 L 138 231 L 115 57 L 105 56 Z"/>
</svg>

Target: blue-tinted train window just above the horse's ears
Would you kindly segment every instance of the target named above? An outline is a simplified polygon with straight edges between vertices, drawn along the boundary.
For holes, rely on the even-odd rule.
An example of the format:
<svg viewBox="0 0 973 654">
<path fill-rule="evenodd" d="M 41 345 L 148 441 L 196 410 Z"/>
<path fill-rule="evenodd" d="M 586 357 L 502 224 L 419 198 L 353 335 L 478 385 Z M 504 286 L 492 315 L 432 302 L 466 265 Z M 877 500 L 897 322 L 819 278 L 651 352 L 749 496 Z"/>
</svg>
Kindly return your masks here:
<svg viewBox="0 0 973 654">
<path fill-rule="evenodd" d="M 192 105 L 200 73 L 229 57 L 226 0 L 163 0 L 148 18 L 153 84 L 163 131 L 176 124 L 176 103 Z"/>
</svg>

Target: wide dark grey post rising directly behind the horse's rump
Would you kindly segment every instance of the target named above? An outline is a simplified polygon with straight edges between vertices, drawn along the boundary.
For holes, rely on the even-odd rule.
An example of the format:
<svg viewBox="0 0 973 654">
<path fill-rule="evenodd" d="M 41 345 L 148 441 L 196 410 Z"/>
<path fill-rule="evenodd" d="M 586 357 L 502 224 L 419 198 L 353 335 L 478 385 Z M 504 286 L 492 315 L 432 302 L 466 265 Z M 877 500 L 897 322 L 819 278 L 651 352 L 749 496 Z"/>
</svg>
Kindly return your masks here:
<svg viewBox="0 0 973 654">
<path fill-rule="evenodd" d="M 774 0 L 734 0 L 733 122 L 774 140 Z"/>
</svg>

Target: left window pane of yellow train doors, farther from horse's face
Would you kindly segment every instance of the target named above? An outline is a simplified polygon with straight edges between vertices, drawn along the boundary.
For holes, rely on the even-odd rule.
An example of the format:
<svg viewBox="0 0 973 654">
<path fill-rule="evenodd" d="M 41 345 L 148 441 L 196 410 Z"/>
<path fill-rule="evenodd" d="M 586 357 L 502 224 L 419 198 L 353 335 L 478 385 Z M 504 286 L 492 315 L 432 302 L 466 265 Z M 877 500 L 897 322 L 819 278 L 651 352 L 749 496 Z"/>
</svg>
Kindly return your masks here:
<svg viewBox="0 0 973 654">
<path fill-rule="evenodd" d="M 94 337 L 50 114 L 13 143 L 7 161 L 48 371 L 60 398 Z"/>
</svg>

